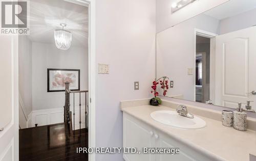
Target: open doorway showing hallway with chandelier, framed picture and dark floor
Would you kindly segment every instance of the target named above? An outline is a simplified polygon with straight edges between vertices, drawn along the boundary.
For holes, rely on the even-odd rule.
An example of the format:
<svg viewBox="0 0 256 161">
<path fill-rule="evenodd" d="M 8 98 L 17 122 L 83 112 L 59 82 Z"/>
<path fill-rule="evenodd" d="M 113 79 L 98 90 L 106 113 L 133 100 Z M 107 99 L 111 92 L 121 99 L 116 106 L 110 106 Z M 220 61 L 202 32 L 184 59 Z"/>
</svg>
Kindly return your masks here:
<svg viewBox="0 0 256 161">
<path fill-rule="evenodd" d="M 19 160 L 88 160 L 76 147 L 89 146 L 89 8 L 29 5 L 30 35 L 19 36 Z M 70 47 L 56 30 L 72 34 L 59 40 Z"/>
</svg>

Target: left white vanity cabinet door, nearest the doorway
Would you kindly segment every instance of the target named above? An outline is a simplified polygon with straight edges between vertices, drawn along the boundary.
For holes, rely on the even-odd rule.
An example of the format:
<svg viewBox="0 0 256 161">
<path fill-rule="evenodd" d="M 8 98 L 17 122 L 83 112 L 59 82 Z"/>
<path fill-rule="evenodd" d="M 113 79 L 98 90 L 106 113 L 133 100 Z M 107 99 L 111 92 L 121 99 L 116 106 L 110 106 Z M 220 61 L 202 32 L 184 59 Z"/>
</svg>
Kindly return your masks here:
<svg viewBox="0 0 256 161">
<path fill-rule="evenodd" d="M 123 147 L 134 147 L 141 151 L 141 154 L 124 153 L 123 158 L 126 161 L 156 160 L 156 155 L 154 154 L 142 154 L 143 147 L 156 147 L 153 129 L 125 113 L 123 113 Z"/>
</svg>

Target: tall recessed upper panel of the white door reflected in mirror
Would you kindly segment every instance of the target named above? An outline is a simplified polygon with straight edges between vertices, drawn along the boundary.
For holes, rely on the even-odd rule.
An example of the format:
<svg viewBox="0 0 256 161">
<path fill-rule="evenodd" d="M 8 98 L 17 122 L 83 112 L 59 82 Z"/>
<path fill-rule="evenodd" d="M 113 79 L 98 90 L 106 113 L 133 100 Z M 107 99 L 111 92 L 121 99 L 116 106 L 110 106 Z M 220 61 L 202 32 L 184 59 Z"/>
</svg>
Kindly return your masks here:
<svg viewBox="0 0 256 161">
<path fill-rule="evenodd" d="M 223 43 L 222 72 L 225 96 L 246 97 L 245 93 L 248 91 L 248 40 L 248 38 L 233 38 Z"/>
</svg>

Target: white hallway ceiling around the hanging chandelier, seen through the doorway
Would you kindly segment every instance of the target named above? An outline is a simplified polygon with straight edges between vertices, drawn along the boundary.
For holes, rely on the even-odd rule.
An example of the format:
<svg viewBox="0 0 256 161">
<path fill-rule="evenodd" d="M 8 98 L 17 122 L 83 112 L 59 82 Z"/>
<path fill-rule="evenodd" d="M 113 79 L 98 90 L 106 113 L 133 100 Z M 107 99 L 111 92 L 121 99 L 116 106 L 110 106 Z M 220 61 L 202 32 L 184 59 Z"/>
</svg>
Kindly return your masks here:
<svg viewBox="0 0 256 161">
<path fill-rule="evenodd" d="M 72 33 L 73 46 L 88 40 L 88 8 L 63 0 L 30 0 L 30 35 L 33 42 L 55 43 L 54 30 L 66 23 Z"/>
</svg>

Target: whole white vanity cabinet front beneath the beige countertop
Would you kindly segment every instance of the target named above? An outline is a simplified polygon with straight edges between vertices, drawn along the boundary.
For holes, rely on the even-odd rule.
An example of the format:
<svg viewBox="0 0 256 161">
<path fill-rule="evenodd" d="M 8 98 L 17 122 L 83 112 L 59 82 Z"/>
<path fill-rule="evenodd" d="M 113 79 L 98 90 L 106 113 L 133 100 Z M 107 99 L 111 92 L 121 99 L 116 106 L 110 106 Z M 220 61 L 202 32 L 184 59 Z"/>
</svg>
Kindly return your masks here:
<svg viewBox="0 0 256 161">
<path fill-rule="evenodd" d="M 123 147 L 136 147 L 141 154 L 124 153 L 125 161 L 213 161 L 217 160 L 207 154 L 203 154 L 183 143 L 173 139 L 165 133 L 147 125 L 146 123 L 123 113 Z M 144 147 L 179 148 L 179 154 L 143 154 Z"/>
</svg>

